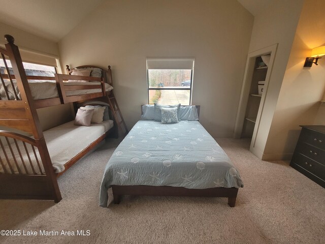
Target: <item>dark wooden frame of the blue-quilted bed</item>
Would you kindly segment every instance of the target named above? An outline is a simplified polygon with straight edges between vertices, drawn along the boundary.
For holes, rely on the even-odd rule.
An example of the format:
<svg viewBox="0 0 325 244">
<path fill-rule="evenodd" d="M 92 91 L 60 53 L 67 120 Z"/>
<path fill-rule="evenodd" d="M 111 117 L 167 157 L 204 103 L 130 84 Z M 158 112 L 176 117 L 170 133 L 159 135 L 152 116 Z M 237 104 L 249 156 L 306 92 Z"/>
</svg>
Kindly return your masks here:
<svg viewBox="0 0 325 244">
<path fill-rule="evenodd" d="M 142 114 L 141 105 L 141 114 Z M 200 116 L 200 105 L 196 106 Z M 121 195 L 149 195 L 149 196 L 188 196 L 188 197 L 227 197 L 228 204 L 235 207 L 238 188 L 208 188 L 188 189 L 169 186 L 112 186 L 114 203 L 120 202 Z"/>
</svg>

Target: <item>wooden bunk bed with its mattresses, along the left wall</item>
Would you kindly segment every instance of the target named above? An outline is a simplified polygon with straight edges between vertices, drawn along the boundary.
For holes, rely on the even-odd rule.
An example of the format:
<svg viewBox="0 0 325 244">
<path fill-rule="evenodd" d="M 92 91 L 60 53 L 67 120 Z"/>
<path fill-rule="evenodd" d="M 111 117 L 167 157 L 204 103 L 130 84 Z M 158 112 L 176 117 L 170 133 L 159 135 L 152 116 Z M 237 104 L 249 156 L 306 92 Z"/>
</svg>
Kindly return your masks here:
<svg viewBox="0 0 325 244">
<path fill-rule="evenodd" d="M 110 104 L 111 69 L 110 66 L 108 70 L 102 69 L 102 77 L 75 76 L 70 75 L 70 72 L 68 75 L 55 74 L 54 77 L 26 76 L 14 38 L 5 35 L 5 39 L 8 43 L 5 48 L 0 48 L 7 71 L 6 74 L 0 74 L 0 86 L 4 94 L 0 97 L 0 126 L 5 128 L 0 131 L 0 198 L 49 199 L 59 202 L 62 197 L 57 177 L 89 153 L 108 134 L 116 134 L 116 121 L 104 121 L 106 123 L 92 124 L 90 127 L 74 126 L 71 121 L 43 132 L 36 109 L 67 103 L 73 103 L 78 108 L 78 104 L 86 102 L 93 105 L 96 101 Z M 9 72 L 6 60 L 10 60 L 14 74 Z M 84 67 L 99 68 L 77 68 Z M 67 70 L 70 71 L 69 67 Z M 30 80 L 38 81 L 34 84 L 36 90 L 44 86 L 44 91 L 54 92 L 48 98 L 44 97 L 45 92 L 41 94 L 43 97 L 35 97 Z M 91 82 L 64 82 L 67 80 Z M 63 147 L 76 144 L 69 141 L 73 137 L 69 134 L 71 129 L 74 130 L 74 135 L 85 137 L 83 145 L 73 150 L 69 150 L 69 146 L 62 148 L 62 144 Z M 85 133 L 91 136 L 84 136 Z M 80 136 L 74 140 L 79 143 Z"/>
</svg>

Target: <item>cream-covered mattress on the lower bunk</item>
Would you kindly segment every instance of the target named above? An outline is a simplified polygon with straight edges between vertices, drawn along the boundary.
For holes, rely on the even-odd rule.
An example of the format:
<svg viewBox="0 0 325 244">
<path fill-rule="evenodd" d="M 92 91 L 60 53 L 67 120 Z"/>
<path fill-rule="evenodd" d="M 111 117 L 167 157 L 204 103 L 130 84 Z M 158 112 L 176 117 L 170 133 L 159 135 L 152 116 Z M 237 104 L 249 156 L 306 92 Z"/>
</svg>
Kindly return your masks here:
<svg viewBox="0 0 325 244">
<path fill-rule="evenodd" d="M 113 120 L 105 120 L 101 124 L 91 124 L 91 126 L 75 126 L 74 121 L 70 121 L 66 124 L 54 127 L 50 130 L 44 131 L 44 138 L 46 141 L 46 145 L 49 151 L 49 155 L 52 161 L 53 168 L 55 173 L 60 173 L 64 171 L 64 164 L 74 158 L 76 155 L 81 153 L 86 147 L 88 147 L 92 142 L 105 134 L 108 130 L 113 127 Z M 27 143 L 26 143 L 27 145 Z M 27 145 L 27 151 L 24 149 L 24 146 L 20 141 L 18 141 L 18 148 L 20 148 L 20 153 L 22 154 L 22 159 L 25 163 L 26 169 L 21 161 L 21 157 L 19 155 L 19 151 L 17 146 L 12 143 L 11 148 L 13 150 L 13 154 L 7 153 L 7 157 L 9 159 L 9 164 L 13 169 L 15 174 L 19 173 L 19 170 L 16 166 L 16 162 L 18 167 L 22 173 L 30 174 L 33 171 L 36 174 L 41 174 L 44 172 L 44 168 L 42 163 L 38 164 L 37 159 L 35 157 L 34 151 L 32 150 L 30 145 Z M 36 149 L 36 155 L 40 160 L 38 149 Z M 5 151 L 10 152 L 9 146 L 5 146 Z M 4 155 L 4 151 L 0 148 L 0 157 L 2 162 L 5 164 L 6 171 L 0 164 L 0 173 L 11 172 L 10 166 L 8 165 L 8 160 Z M 32 167 L 30 166 L 29 159 L 32 161 Z M 16 162 L 15 162 L 16 160 Z M 34 169 L 33 169 L 34 168 Z"/>
</svg>

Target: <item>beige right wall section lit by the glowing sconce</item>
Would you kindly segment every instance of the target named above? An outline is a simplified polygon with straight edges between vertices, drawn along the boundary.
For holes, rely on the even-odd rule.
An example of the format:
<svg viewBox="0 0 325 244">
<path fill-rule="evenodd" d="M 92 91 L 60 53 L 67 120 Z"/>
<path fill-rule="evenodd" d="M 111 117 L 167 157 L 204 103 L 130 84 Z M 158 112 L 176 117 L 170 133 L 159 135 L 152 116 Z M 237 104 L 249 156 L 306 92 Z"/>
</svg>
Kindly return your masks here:
<svg viewBox="0 0 325 244">
<path fill-rule="evenodd" d="M 300 134 L 299 125 L 321 123 L 324 116 L 319 101 L 325 90 L 325 60 L 303 68 L 311 49 L 325 45 L 324 12 L 323 0 L 305 0 L 264 151 L 267 159 L 290 159 Z"/>
</svg>

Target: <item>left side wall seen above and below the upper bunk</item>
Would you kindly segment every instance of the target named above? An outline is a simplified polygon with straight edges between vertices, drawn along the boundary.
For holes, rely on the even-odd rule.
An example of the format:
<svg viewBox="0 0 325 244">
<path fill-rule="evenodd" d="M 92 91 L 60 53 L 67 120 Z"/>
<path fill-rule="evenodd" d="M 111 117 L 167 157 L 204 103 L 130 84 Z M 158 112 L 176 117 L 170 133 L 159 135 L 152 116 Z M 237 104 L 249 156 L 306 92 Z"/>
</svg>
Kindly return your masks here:
<svg viewBox="0 0 325 244">
<path fill-rule="evenodd" d="M 0 22 L 0 37 L 3 38 L 1 39 L 3 41 L 0 43 L 5 43 L 4 35 L 6 34 L 9 34 L 15 38 L 15 44 L 18 46 L 18 48 L 23 47 L 28 50 L 35 50 L 36 52 L 52 54 L 55 56 L 59 55 L 57 43 Z M 43 130 L 50 129 L 73 119 L 70 104 L 42 108 L 38 109 L 37 112 L 39 114 Z"/>
</svg>

